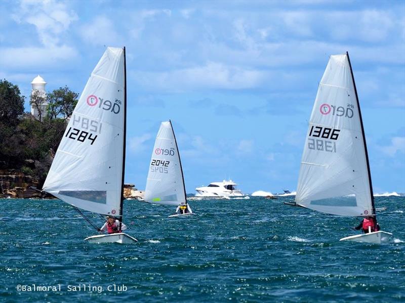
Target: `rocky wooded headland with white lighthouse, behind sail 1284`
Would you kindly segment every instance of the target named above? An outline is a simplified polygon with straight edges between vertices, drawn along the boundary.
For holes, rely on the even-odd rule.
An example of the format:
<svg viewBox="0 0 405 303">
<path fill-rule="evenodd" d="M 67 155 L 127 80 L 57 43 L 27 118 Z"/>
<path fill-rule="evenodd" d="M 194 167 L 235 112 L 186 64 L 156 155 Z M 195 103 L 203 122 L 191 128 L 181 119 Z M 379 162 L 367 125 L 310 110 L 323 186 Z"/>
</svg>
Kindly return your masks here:
<svg viewBox="0 0 405 303">
<path fill-rule="evenodd" d="M 41 198 L 51 167 L 78 94 L 67 86 L 46 92 L 47 82 L 37 75 L 31 82 L 30 112 L 17 85 L 0 80 L 0 198 Z M 143 197 L 133 184 L 126 198 Z"/>
</svg>

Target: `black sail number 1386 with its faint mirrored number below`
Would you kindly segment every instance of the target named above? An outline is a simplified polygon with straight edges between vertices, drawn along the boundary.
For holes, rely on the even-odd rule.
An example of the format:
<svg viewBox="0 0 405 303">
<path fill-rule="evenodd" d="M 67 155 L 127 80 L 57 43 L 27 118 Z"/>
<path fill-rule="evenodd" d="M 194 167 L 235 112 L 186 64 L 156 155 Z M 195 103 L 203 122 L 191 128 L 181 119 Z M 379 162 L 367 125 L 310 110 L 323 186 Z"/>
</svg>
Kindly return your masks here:
<svg viewBox="0 0 405 303">
<path fill-rule="evenodd" d="M 315 137 L 319 139 L 308 138 L 308 148 L 336 153 L 336 140 L 338 140 L 339 138 L 339 133 L 340 129 L 312 125 L 309 131 L 309 137 Z"/>
</svg>

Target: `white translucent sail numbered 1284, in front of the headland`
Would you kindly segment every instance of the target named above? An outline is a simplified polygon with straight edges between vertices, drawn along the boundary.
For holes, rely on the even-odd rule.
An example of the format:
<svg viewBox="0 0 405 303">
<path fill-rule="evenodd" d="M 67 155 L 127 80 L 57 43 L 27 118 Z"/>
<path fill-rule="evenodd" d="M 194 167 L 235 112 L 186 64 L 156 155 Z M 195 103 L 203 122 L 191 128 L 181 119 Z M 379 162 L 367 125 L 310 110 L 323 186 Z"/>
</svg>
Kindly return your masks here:
<svg viewBox="0 0 405 303">
<path fill-rule="evenodd" d="M 119 215 L 124 89 L 124 50 L 107 48 L 70 117 L 44 191 L 85 210 Z"/>
</svg>

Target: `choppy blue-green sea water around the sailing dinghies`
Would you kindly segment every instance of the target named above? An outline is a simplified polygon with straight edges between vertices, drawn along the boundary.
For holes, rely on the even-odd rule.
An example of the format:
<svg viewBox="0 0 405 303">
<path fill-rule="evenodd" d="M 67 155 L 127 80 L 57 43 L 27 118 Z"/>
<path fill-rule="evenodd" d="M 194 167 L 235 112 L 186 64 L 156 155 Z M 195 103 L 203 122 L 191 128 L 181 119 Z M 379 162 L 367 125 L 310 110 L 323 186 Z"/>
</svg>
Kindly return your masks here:
<svg viewBox="0 0 405 303">
<path fill-rule="evenodd" d="M 191 200 L 173 219 L 126 200 L 129 245 L 85 242 L 97 232 L 62 201 L 0 199 L 0 301 L 405 301 L 405 197 L 376 197 L 381 245 L 339 242 L 359 218 L 293 199 Z"/>
</svg>

